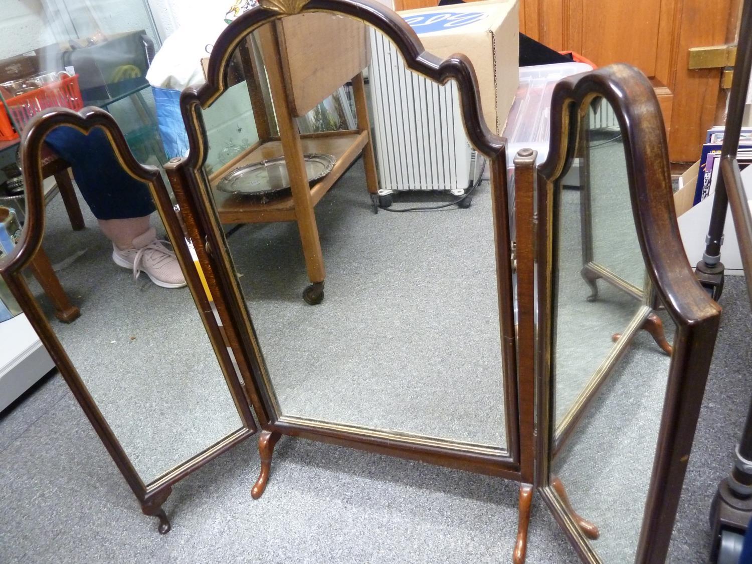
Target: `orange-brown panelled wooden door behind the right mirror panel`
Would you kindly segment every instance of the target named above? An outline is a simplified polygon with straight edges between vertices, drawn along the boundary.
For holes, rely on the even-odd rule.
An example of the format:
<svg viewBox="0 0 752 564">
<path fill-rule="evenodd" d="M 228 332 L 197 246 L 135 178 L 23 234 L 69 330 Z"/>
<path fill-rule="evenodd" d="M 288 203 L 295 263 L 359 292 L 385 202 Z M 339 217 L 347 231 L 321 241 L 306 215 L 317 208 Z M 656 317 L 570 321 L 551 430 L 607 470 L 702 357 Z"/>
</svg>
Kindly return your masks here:
<svg viewBox="0 0 752 564">
<path fill-rule="evenodd" d="M 520 0 L 520 32 L 596 65 L 635 65 L 655 89 L 672 161 L 699 159 L 714 125 L 720 69 L 690 70 L 689 48 L 726 43 L 735 2 L 702 0 Z"/>
</svg>

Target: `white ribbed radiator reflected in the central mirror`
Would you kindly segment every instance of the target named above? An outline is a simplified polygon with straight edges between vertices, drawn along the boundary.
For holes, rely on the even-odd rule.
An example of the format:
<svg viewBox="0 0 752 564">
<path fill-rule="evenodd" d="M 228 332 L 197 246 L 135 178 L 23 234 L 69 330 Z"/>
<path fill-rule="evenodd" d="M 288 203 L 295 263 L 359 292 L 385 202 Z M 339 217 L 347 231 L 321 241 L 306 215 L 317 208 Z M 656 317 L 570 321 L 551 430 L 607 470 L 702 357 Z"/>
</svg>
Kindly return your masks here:
<svg viewBox="0 0 752 564">
<path fill-rule="evenodd" d="M 479 169 L 468 144 L 456 84 L 436 84 L 405 67 L 402 55 L 371 29 L 368 69 L 381 190 L 462 194 Z"/>
</svg>

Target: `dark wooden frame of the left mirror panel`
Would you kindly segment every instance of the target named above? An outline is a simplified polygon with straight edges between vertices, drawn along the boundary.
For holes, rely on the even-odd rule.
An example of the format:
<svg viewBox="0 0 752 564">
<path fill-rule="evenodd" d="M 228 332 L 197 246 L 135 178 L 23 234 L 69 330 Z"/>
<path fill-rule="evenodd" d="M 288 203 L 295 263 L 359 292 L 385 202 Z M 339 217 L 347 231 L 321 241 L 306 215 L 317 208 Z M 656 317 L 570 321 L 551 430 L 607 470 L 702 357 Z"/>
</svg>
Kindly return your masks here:
<svg viewBox="0 0 752 564">
<path fill-rule="evenodd" d="M 83 380 L 78 374 L 73 362 L 68 357 L 65 347 L 58 340 L 54 329 L 41 310 L 34 294 L 26 284 L 23 276 L 23 268 L 29 265 L 35 254 L 41 247 L 44 238 L 45 205 L 43 174 L 41 170 L 41 153 L 47 134 L 59 126 L 69 126 L 86 134 L 92 129 L 102 129 L 110 141 L 118 162 L 130 176 L 140 180 L 149 186 L 151 196 L 159 217 L 165 226 L 165 230 L 173 242 L 175 255 L 185 274 L 186 283 L 196 303 L 196 309 L 201 317 L 204 328 L 208 334 L 217 362 L 222 369 L 226 384 L 235 407 L 238 409 L 241 426 L 229 435 L 205 448 L 200 453 L 192 456 L 173 468 L 159 475 L 153 481 L 144 483 L 138 471 L 130 461 L 117 435 L 109 426 L 106 418 L 99 410 L 95 399 L 89 393 Z M 217 323 L 217 319 L 211 309 L 209 298 L 199 276 L 199 271 L 194 266 L 190 249 L 186 244 L 186 234 L 180 226 L 180 220 L 174 211 L 170 195 L 162 180 L 159 170 L 153 166 L 141 165 L 129 150 L 123 132 L 117 126 L 114 118 L 99 108 L 83 108 L 79 113 L 68 109 L 50 109 L 37 114 L 29 125 L 24 129 L 21 138 L 23 181 L 26 185 L 26 223 L 23 226 L 21 239 L 14 250 L 0 260 L 0 276 L 8 284 L 14 298 L 23 309 L 34 330 L 47 348 L 55 362 L 65 383 L 70 387 L 74 397 L 89 419 L 99 438 L 112 456 L 117 468 L 123 474 L 129 487 L 141 504 L 141 510 L 146 515 L 159 518 L 158 530 L 165 534 L 171 528 L 170 521 L 165 514 L 162 504 L 171 493 L 171 487 L 191 472 L 205 465 L 211 459 L 234 447 L 239 442 L 256 432 L 256 424 L 250 411 L 248 399 L 244 394 L 238 374 L 229 356 L 223 328 Z M 186 229 L 193 232 L 193 218 L 185 217 Z M 202 240 L 193 238 L 196 250 L 203 250 Z M 211 266 L 202 264 L 203 274 L 207 280 L 214 278 Z M 217 296 L 213 296 L 215 305 L 220 306 Z M 86 315 L 86 312 L 83 312 Z"/>
</svg>

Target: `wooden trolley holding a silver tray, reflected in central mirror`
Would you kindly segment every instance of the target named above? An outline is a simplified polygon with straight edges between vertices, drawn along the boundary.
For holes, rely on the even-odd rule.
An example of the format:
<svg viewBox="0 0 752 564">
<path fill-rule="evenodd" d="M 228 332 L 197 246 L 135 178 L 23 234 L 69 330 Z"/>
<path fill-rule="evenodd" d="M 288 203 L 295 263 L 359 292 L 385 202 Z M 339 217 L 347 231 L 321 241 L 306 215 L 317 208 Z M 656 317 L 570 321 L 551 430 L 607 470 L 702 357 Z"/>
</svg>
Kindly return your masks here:
<svg viewBox="0 0 752 564">
<path fill-rule="evenodd" d="M 250 44 L 240 47 L 259 141 L 211 175 L 216 186 L 228 171 L 250 162 L 284 156 L 292 195 L 273 202 L 253 202 L 243 196 L 214 191 L 222 223 L 295 221 L 311 286 L 303 292 L 309 304 L 323 299 L 324 263 L 314 206 L 362 152 L 368 192 L 376 194 L 376 166 L 361 71 L 368 66 L 365 24 L 328 14 L 301 14 L 270 23 L 259 30 L 262 65 Z M 279 135 L 272 135 L 270 101 L 259 88 L 268 77 Z M 357 129 L 339 132 L 298 132 L 295 118 L 304 116 L 348 80 L 353 82 Z M 337 162 L 332 171 L 309 186 L 304 153 L 329 153 Z"/>
</svg>

